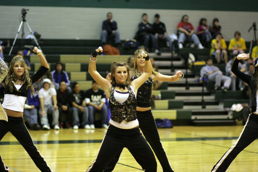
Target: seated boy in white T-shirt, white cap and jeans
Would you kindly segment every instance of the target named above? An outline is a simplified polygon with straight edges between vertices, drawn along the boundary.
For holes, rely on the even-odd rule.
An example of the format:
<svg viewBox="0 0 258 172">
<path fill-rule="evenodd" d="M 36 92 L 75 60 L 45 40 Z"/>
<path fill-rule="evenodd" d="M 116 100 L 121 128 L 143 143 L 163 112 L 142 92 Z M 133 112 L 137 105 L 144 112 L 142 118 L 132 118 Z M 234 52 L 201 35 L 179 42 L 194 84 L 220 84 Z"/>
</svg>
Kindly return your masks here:
<svg viewBox="0 0 258 172">
<path fill-rule="evenodd" d="M 39 114 L 43 130 L 50 130 L 48 115 L 52 115 L 52 125 L 54 126 L 54 129 L 59 130 L 59 112 L 56 100 L 56 90 L 50 87 L 50 84 L 50 79 L 44 79 L 43 88 L 38 92 L 38 97 L 40 99 Z"/>
</svg>

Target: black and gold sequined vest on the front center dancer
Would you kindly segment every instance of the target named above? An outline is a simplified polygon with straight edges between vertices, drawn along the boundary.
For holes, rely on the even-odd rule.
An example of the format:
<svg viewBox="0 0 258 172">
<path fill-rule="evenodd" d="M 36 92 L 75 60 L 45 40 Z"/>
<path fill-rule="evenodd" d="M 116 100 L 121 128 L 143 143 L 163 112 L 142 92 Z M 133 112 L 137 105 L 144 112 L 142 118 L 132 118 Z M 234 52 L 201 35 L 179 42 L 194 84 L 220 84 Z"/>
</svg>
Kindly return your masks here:
<svg viewBox="0 0 258 172">
<path fill-rule="evenodd" d="M 124 103 L 119 103 L 114 97 L 115 86 L 112 85 L 110 90 L 109 107 L 111 111 L 111 119 L 121 123 L 123 120 L 126 122 L 136 120 L 136 98 L 130 85 L 127 86 L 129 97 Z"/>
</svg>

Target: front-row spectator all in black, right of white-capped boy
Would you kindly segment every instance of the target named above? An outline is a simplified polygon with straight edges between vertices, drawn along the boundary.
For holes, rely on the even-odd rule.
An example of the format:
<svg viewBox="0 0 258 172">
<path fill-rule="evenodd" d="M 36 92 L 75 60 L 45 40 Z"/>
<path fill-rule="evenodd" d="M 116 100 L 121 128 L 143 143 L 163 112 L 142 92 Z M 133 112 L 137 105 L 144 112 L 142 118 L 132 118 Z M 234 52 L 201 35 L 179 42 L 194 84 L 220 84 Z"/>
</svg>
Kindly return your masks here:
<svg viewBox="0 0 258 172">
<path fill-rule="evenodd" d="M 64 81 L 59 83 L 57 90 L 57 106 L 59 111 L 59 127 L 72 128 L 73 108 L 70 106 L 70 93 L 67 91 L 67 85 Z"/>
</svg>

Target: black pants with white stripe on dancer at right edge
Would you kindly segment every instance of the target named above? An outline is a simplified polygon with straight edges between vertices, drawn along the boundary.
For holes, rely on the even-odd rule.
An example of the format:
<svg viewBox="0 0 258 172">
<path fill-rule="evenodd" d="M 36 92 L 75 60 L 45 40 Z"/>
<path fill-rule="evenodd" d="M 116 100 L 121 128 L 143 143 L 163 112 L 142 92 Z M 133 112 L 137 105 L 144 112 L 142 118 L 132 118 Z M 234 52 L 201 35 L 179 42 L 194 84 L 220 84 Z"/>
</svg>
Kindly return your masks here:
<svg viewBox="0 0 258 172">
<path fill-rule="evenodd" d="M 236 156 L 258 137 L 258 115 L 250 114 L 247 122 L 233 146 L 214 165 L 212 172 L 224 172 Z"/>
</svg>

